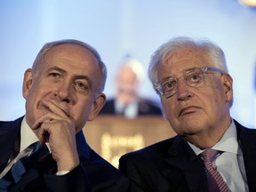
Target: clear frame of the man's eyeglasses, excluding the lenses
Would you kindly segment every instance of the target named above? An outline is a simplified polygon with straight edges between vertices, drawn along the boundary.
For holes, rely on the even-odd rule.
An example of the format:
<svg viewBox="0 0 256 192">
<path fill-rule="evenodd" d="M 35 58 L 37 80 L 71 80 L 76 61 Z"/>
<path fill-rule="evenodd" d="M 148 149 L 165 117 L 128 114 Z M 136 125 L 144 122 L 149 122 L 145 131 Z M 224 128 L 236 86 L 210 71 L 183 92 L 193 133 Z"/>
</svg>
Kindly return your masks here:
<svg viewBox="0 0 256 192">
<path fill-rule="evenodd" d="M 203 72 L 203 80 L 201 80 L 199 83 L 190 85 L 186 81 L 186 76 L 188 76 L 188 74 L 190 72 L 193 72 L 193 71 L 196 71 L 196 70 L 201 70 Z M 166 77 L 166 78 L 164 78 L 162 81 L 154 84 L 154 87 L 155 87 L 156 91 L 158 92 L 158 94 L 160 94 L 161 96 L 164 96 L 167 99 L 167 98 L 172 97 L 177 92 L 177 86 L 178 86 L 177 83 L 178 83 L 178 81 L 180 81 L 180 79 L 182 79 L 182 81 L 185 84 L 187 84 L 189 87 L 195 87 L 197 84 L 201 84 L 202 82 L 204 82 L 204 76 L 205 76 L 207 71 L 218 72 L 218 73 L 220 73 L 221 76 L 226 73 L 223 70 L 221 70 L 220 68 L 208 68 L 208 67 L 204 67 L 204 68 L 191 68 L 191 69 L 188 69 L 185 72 L 183 72 L 183 75 L 180 76 L 179 78 L 173 78 L 173 77 Z M 176 83 L 175 87 L 173 88 L 172 92 L 165 93 L 165 92 L 163 92 L 163 88 L 161 88 L 160 86 L 161 86 L 161 84 L 167 83 L 170 80 L 172 80 L 172 81 L 174 81 Z"/>
</svg>

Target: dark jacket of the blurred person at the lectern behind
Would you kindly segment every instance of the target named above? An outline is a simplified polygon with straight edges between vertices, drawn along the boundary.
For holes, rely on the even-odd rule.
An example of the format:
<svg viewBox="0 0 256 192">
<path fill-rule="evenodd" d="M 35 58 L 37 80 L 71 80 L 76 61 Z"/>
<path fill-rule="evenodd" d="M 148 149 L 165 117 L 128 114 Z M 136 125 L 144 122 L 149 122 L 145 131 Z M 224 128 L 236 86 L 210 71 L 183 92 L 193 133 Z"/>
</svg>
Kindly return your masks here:
<svg viewBox="0 0 256 192">
<path fill-rule="evenodd" d="M 100 115 L 115 115 L 115 99 L 107 100 L 103 108 L 100 110 Z M 161 116 L 162 110 L 155 102 L 151 100 L 140 99 L 138 116 Z"/>
</svg>

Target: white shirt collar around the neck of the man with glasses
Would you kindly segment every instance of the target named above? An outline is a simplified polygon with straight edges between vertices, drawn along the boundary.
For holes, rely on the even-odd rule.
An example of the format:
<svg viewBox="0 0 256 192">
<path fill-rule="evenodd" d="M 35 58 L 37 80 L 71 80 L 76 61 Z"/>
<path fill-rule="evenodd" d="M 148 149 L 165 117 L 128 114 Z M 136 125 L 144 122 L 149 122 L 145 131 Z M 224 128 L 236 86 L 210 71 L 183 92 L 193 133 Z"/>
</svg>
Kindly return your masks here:
<svg viewBox="0 0 256 192">
<path fill-rule="evenodd" d="M 195 151 L 197 156 L 204 151 L 189 142 L 188 145 Z M 212 149 L 242 155 L 241 148 L 239 148 L 237 142 L 236 124 L 233 119 L 227 131 L 224 133 L 220 141 L 212 147 Z"/>
</svg>

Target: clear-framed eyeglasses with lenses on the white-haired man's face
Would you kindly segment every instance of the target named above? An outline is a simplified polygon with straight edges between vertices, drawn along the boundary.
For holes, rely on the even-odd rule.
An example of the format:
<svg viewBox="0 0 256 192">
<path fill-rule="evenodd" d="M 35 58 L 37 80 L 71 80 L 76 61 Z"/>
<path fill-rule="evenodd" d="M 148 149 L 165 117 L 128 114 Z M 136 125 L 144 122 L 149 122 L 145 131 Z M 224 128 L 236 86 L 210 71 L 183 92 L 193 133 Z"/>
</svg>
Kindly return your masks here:
<svg viewBox="0 0 256 192">
<path fill-rule="evenodd" d="M 204 77 L 207 71 L 218 72 L 221 75 L 224 73 L 219 68 L 192 68 L 184 72 L 179 78 L 167 77 L 161 82 L 155 84 L 157 92 L 166 99 L 172 97 L 177 92 L 177 84 L 180 79 L 190 87 L 204 82 Z"/>
</svg>

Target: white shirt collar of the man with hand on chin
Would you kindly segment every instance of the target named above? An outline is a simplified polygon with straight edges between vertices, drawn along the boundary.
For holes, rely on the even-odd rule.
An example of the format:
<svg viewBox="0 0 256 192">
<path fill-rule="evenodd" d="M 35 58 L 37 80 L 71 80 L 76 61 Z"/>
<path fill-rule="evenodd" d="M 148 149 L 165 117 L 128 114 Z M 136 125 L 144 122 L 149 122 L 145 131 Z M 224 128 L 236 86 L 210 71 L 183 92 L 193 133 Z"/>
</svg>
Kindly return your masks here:
<svg viewBox="0 0 256 192">
<path fill-rule="evenodd" d="M 36 134 L 31 130 L 26 121 L 26 116 L 23 118 L 20 127 L 20 151 L 28 148 L 32 143 L 38 141 Z"/>
</svg>

